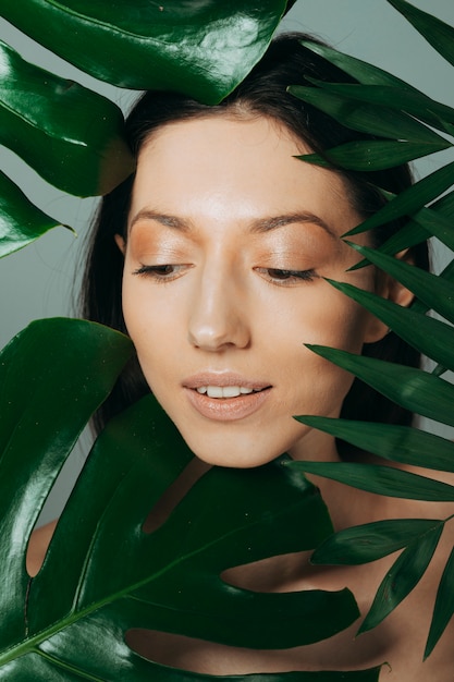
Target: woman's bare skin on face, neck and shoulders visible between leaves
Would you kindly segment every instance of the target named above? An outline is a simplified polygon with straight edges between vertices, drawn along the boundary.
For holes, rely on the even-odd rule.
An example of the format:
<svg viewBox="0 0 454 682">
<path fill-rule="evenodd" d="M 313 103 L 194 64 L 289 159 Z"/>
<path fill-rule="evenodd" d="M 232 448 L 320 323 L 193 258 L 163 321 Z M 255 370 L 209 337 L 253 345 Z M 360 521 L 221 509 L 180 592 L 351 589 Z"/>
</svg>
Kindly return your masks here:
<svg viewBox="0 0 454 682">
<path fill-rule="evenodd" d="M 284 451 L 294 459 L 338 461 L 334 439 L 293 415 L 338 416 L 352 377 L 305 344 L 360 353 L 386 328 L 324 278 L 401 305 L 412 301 L 407 290 L 371 267 L 347 271 L 357 254 L 341 236 L 361 216 L 341 175 L 295 158 L 305 151 L 272 120 L 217 114 L 164 125 L 139 154 L 127 238 L 116 236 L 125 259 L 124 317 L 151 390 L 208 465 L 257 466 Z M 336 528 L 452 513 L 447 504 L 314 480 Z M 34 537 L 30 573 L 39 569 L 50 534 L 45 528 Z M 421 661 L 453 539 L 447 527 L 414 593 L 357 641 L 359 621 L 327 642 L 284 651 L 143 631 L 131 633 L 128 642 L 154 660 L 209 674 L 348 670 L 389 661 L 380 680 L 447 682 L 453 628 Z M 394 559 L 315 568 L 308 555 L 292 555 L 236 569 L 229 580 L 270 592 L 349 586 L 365 614 Z"/>
</svg>

